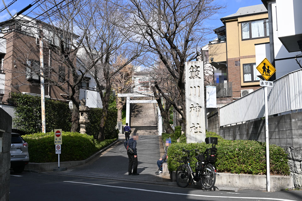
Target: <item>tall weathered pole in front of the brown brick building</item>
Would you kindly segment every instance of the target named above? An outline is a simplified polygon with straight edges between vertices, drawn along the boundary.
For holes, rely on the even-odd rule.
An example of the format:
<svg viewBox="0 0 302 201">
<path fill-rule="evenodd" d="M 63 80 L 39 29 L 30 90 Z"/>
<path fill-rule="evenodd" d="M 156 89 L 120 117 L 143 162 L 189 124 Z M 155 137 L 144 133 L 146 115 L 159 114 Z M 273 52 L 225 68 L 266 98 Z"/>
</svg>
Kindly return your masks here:
<svg viewBox="0 0 302 201">
<path fill-rule="evenodd" d="M 42 32 L 42 31 L 41 31 Z M 46 123 L 45 123 L 45 92 L 44 92 L 44 57 L 43 57 L 43 40 L 42 36 L 39 36 L 40 39 L 40 84 L 41 84 L 41 113 L 42 113 L 42 133 L 46 133 Z"/>
</svg>

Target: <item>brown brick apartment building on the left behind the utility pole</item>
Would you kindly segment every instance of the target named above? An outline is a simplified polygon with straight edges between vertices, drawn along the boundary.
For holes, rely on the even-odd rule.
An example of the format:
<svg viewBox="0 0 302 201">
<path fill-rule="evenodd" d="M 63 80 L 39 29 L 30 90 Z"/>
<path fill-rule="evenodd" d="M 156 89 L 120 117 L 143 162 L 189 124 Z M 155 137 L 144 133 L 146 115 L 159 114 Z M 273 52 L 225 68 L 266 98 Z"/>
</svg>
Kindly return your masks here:
<svg viewBox="0 0 302 201">
<path fill-rule="evenodd" d="M 2 78 L 0 89 L 2 96 L 10 91 L 39 96 L 41 95 L 39 38 L 35 30 L 17 24 L 11 21 L 2 26 L 0 39 L 0 46 L 3 47 L 3 51 L 0 47 L 0 78 Z M 56 58 L 58 56 L 55 52 L 49 51 L 45 41 L 43 56 L 44 75 L 51 76 L 57 82 L 60 82 L 60 76 L 61 78 L 64 76 L 65 79 L 72 82 L 72 74 L 68 73 L 64 64 L 57 62 L 59 61 Z M 57 72 L 49 71 L 49 66 L 57 69 Z M 68 90 L 67 84 L 63 81 L 62 87 Z M 49 84 L 46 80 L 44 88 L 46 98 L 60 101 L 68 100 L 68 96 L 59 87 Z"/>
</svg>

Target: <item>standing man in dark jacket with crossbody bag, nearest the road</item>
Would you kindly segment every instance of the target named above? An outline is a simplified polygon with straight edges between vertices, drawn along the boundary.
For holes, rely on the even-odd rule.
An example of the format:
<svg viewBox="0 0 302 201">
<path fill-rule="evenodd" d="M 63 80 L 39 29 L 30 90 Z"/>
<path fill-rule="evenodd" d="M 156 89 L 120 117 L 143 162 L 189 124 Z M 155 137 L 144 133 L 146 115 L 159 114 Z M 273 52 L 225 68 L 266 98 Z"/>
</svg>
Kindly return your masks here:
<svg viewBox="0 0 302 201">
<path fill-rule="evenodd" d="M 128 175 L 139 175 L 137 173 L 137 149 L 136 149 L 136 140 L 138 139 L 138 136 L 133 133 L 131 135 L 131 138 L 127 140 L 124 145 L 125 148 L 127 149 L 127 146 L 129 146 L 133 150 L 133 155 L 129 154 L 127 152 L 128 158 L 129 158 L 129 165 L 128 165 Z M 133 172 L 132 172 L 132 167 L 133 167 Z"/>
</svg>

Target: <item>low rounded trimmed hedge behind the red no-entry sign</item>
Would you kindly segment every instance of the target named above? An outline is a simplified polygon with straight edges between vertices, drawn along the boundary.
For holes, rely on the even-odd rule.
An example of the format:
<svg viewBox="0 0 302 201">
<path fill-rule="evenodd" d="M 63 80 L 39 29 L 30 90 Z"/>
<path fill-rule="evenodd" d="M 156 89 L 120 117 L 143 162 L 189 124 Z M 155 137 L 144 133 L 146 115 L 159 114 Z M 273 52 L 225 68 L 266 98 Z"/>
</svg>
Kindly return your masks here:
<svg viewBox="0 0 302 201">
<path fill-rule="evenodd" d="M 98 142 L 92 136 L 81 133 L 62 132 L 62 154 L 60 161 L 85 160 L 93 153 L 114 142 L 116 139 Z M 22 136 L 28 143 L 30 162 L 47 163 L 57 162 L 55 154 L 54 133 L 34 133 Z"/>
</svg>

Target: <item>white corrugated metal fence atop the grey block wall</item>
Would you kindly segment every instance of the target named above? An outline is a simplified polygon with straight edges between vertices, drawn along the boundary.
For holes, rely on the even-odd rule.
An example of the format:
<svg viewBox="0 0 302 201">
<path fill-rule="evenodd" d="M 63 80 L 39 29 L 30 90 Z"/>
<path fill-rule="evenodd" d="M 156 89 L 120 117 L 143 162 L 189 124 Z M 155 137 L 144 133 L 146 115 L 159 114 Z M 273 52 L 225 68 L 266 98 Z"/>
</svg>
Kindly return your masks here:
<svg viewBox="0 0 302 201">
<path fill-rule="evenodd" d="M 302 69 L 288 73 L 268 87 L 268 113 L 302 108 Z M 220 126 L 265 116 L 264 87 L 220 108 Z"/>
</svg>

